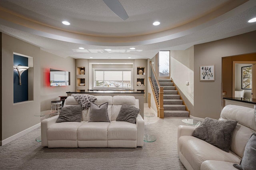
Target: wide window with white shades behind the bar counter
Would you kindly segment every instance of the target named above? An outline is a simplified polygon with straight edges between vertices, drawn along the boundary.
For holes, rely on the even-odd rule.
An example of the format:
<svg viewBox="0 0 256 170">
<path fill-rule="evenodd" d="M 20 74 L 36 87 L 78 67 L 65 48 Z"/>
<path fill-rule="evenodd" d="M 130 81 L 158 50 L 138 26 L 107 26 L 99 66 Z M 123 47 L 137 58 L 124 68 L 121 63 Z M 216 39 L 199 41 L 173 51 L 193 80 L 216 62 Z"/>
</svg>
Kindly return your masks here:
<svg viewBox="0 0 256 170">
<path fill-rule="evenodd" d="M 94 87 L 132 88 L 132 70 L 94 69 Z"/>
</svg>

